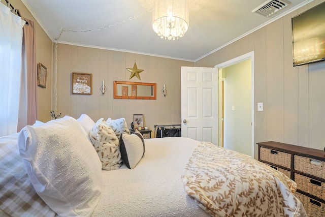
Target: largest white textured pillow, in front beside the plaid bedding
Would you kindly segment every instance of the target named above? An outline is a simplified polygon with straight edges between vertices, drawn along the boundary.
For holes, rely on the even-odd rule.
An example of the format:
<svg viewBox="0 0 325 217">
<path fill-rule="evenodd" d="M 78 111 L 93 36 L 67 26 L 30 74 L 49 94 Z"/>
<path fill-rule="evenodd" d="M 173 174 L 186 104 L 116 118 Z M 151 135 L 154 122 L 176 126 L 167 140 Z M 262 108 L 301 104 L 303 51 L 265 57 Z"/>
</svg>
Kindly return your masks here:
<svg viewBox="0 0 325 217">
<path fill-rule="evenodd" d="M 75 118 L 24 127 L 18 148 L 32 185 L 53 211 L 91 215 L 101 196 L 102 165 Z"/>
</svg>

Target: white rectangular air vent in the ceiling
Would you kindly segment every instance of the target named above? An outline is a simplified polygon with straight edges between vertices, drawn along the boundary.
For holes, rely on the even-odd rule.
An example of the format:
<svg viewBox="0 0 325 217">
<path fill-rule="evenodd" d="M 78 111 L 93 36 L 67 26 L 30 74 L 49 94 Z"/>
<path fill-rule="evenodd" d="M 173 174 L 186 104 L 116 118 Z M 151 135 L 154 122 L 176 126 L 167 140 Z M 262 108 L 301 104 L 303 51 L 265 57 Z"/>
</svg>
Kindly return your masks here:
<svg viewBox="0 0 325 217">
<path fill-rule="evenodd" d="M 252 12 L 268 17 L 290 4 L 291 2 L 287 0 L 269 0 L 252 10 Z"/>
</svg>

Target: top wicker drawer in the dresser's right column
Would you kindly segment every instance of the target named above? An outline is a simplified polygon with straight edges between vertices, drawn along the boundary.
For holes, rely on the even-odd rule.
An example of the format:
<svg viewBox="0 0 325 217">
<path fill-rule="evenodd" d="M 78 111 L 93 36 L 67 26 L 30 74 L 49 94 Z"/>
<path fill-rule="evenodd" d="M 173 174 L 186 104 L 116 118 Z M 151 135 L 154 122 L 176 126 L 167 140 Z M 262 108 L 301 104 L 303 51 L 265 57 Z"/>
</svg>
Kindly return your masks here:
<svg viewBox="0 0 325 217">
<path fill-rule="evenodd" d="M 295 155 L 295 170 L 325 179 L 325 162 Z"/>
</svg>

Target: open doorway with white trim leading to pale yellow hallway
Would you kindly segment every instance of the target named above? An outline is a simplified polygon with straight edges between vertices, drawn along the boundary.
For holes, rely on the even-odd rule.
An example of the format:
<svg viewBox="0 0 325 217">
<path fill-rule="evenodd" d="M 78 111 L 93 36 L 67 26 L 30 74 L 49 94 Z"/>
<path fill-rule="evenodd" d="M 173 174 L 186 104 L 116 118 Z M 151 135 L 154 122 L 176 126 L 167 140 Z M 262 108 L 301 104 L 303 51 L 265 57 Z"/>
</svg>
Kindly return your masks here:
<svg viewBox="0 0 325 217">
<path fill-rule="evenodd" d="M 252 158 L 254 158 L 253 66 L 253 51 L 215 66 L 219 73 L 219 144 Z"/>
</svg>

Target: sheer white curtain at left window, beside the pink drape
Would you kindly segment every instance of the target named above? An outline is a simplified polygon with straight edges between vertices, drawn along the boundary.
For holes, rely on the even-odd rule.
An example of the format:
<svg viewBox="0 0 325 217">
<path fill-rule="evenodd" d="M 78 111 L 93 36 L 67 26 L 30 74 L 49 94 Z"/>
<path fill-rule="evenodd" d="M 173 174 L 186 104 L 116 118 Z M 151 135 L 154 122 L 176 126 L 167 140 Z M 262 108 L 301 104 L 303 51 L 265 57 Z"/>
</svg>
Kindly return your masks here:
<svg viewBox="0 0 325 217">
<path fill-rule="evenodd" d="M 24 24 L 0 4 L 0 136 L 17 132 Z"/>
</svg>

